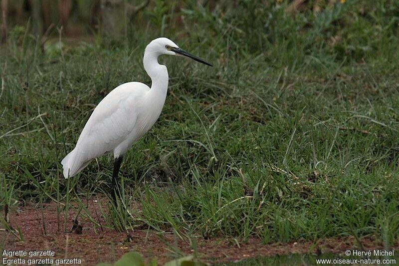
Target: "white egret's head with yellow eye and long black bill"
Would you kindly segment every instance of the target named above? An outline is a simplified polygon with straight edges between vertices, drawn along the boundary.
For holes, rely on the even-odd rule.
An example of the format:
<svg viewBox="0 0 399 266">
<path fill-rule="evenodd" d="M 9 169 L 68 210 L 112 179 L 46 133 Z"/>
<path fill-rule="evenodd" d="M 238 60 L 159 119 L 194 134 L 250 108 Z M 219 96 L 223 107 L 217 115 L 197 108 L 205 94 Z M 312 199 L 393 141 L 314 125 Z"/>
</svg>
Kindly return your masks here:
<svg viewBox="0 0 399 266">
<path fill-rule="evenodd" d="M 179 46 L 176 43 L 165 37 L 156 38 L 153 41 L 151 41 L 146 47 L 146 52 L 156 53 L 157 55 L 168 54 L 168 55 L 186 56 L 205 65 L 212 66 L 211 64 L 205 62 L 200 57 L 197 57 L 179 48 Z"/>
</svg>

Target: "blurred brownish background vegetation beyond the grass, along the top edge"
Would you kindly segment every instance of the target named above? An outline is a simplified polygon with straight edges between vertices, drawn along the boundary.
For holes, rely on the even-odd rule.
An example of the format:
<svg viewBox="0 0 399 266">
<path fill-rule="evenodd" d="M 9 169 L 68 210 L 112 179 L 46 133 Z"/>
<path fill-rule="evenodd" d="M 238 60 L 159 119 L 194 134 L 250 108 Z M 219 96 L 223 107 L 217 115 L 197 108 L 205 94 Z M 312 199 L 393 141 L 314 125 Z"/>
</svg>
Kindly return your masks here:
<svg viewBox="0 0 399 266">
<path fill-rule="evenodd" d="M 345 3 L 346 0 L 1 0 L 1 39 L 5 41 L 8 30 L 16 25 L 27 26 L 39 36 L 44 33 L 48 35 L 53 27 L 59 26 L 63 27 L 67 36 L 82 36 L 93 31 L 102 31 L 105 35 L 121 34 L 127 30 L 130 22 L 140 25 L 148 22 L 145 19 L 148 14 L 153 26 L 157 27 L 165 26 L 166 22 L 182 22 L 183 17 L 179 11 L 193 5 L 215 11 L 219 19 L 227 20 L 239 15 L 242 8 L 250 9 L 246 21 L 241 21 L 241 25 L 250 25 L 252 22 L 267 20 L 262 15 L 272 5 L 282 5 L 291 14 L 309 11 L 317 13 L 337 2 Z"/>
</svg>

